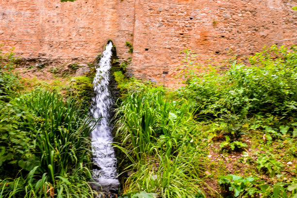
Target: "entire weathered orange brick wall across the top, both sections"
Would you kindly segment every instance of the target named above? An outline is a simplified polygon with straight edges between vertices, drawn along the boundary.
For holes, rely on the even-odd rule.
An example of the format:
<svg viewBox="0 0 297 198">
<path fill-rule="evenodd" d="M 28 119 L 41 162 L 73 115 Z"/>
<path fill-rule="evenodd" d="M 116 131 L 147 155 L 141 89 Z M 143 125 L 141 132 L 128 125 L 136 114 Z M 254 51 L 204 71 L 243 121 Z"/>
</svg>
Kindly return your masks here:
<svg viewBox="0 0 297 198">
<path fill-rule="evenodd" d="M 0 0 L 0 42 L 25 58 L 92 61 L 108 39 L 130 73 L 171 85 L 183 49 L 251 55 L 297 44 L 296 0 Z M 125 41 L 133 44 L 133 53 Z"/>
</svg>

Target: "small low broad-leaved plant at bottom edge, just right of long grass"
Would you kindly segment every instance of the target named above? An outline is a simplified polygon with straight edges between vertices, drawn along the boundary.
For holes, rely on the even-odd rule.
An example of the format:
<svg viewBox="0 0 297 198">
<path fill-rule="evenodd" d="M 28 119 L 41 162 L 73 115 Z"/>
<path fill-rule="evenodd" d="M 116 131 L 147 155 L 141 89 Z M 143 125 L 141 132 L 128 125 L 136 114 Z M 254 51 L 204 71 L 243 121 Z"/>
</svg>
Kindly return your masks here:
<svg viewBox="0 0 297 198">
<path fill-rule="evenodd" d="M 234 197 L 240 195 L 254 194 L 255 190 L 252 188 L 254 185 L 255 178 L 249 176 L 248 178 L 242 178 L 236 175 L 227 175 L 219 178 L 219 184 L 228 187 L 230 192 L 233 192 Z"/>
</svg>

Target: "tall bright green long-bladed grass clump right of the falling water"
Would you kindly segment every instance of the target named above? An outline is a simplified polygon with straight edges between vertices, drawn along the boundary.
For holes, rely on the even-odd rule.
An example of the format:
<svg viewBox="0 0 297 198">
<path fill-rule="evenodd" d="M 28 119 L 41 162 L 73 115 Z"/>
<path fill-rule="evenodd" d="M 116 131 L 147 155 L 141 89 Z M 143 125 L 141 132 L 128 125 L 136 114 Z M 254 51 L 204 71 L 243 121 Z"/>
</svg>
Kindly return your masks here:
<svg viewBox="0 0 297 198">
<path fill-rule="evenodd" d="M 193 125 L 190 105 L 166 99 L 164 88 L 132 82 L 115 110 L 115 137 L 120 140 L 115 146 L 129 159 L 119 162 L 123 171 L 134 171 L 125 182 L 124 195 L 133 197 L 146 189 L 157 197 L 204 198 L 200 178 L 204 146 L 198 144 L 200 132 Z"/>
</svg>

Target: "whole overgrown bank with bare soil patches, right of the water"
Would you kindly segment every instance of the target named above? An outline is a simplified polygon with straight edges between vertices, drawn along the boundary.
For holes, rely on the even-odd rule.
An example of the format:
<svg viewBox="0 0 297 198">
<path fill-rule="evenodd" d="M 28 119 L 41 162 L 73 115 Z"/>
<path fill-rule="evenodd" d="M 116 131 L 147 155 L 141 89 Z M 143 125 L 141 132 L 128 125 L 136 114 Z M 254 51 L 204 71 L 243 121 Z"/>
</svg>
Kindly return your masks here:
<svg viewBox="0 0 297 198">
<path fill-rule="evenodd" d="M 296 198 L 296 52 L 273 46 L 228 71 L 188 53 L 175 91 L 115 72 L 122 197 Z"/>
</svg>

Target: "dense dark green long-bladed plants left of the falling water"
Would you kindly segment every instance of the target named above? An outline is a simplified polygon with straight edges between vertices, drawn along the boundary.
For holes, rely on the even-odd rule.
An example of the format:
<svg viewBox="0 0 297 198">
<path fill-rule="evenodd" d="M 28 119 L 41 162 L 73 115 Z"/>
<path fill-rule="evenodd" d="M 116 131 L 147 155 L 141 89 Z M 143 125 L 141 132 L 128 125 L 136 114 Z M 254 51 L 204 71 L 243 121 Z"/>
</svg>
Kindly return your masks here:
<svg viewBox="0 0 297 198">
<path fill-rule="evenodd" d="M 0 180 L 1 197 L 91 197 L 92 124 L 81 105 L 41 89 L 0 105 L 0 172 L 16 178 Z"/>
</svg>

